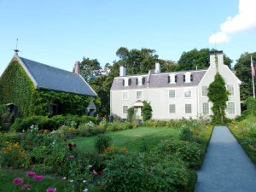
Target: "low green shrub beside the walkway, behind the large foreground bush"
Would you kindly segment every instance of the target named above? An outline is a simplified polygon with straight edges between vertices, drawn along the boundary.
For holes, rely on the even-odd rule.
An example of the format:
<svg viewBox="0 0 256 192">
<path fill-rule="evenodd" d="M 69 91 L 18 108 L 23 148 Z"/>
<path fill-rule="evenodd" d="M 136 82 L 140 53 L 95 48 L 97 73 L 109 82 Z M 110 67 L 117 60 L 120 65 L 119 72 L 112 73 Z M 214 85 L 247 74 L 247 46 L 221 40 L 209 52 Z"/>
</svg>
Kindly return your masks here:
<svg viewBox="0 0 256 192">
<path fill-rule="evenodd" d="M 201 166 L 201 147 L 198 143 L 186 141 L 162 141 L 156 148 L 157 154 L 177 154 L 190 168 Z"/>
</svg>

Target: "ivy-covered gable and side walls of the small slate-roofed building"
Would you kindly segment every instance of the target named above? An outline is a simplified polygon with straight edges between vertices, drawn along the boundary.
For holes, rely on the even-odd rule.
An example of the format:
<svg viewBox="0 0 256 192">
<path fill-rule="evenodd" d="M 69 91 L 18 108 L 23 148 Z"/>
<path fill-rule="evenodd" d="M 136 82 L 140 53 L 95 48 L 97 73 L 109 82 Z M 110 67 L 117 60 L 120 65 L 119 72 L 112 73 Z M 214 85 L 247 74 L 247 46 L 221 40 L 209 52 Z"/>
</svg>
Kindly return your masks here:
<svg viewBox="0 0 256 192">
<path fill-rule="evenodd" d="M 0 79 L 0 104 L 14 103 L 18 117 L 49 115 L 49 105 L 56 104 L 61 114 L 85 113 L 90 101 L 100 105 L 98 98 L 55 90 L 35 90 L 31 79 L 18 61 L 12 61 Z"/>
</svg>

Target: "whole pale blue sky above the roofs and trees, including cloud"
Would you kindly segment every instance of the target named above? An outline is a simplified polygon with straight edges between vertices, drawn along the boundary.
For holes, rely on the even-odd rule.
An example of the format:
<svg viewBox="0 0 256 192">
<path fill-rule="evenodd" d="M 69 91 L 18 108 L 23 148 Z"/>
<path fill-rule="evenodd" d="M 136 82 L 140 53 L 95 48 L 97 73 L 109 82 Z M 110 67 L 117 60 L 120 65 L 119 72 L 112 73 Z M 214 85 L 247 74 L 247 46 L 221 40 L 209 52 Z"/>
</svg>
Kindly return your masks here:
<svg viewBox="0 0 256 192">
<path fill-rule="evenodd" d="M 256 51 L 256 0 L 0 0 L 0 74 L 16 38 L 20 56 L 66 70 L 112 64 L 121 46 L 172 61 L 216 46 L 236 63 Z"/>
</svg>

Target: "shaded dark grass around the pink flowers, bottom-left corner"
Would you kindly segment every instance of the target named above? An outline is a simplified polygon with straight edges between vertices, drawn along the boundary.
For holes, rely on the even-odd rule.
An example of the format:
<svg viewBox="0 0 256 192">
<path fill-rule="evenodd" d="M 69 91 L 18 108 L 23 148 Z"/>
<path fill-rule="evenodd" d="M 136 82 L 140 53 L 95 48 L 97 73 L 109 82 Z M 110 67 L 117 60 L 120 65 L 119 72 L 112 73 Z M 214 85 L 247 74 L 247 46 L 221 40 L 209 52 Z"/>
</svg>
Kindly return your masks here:
<svg viewBox="0 0 256 192">
<path fill-rule="evenodd" d="M 25 171 L 20 170 L 9 170 L 9 169 L 0 169 L 0 191 L 6 191 L 6 192 L 12 192 L 12 191 L 23 191 L 23 190 L 17 190 L 18 187 L 13 184 L 13 180 L 15 177 L 21 177 L 25 180 L 24 184 L 27 184 L 26 180 L 28 179 L 26 177 Z M 57 189 L 57 191 L 64 191 L 66 184 L 61 180 L 61 178 L 53 178 L 53 177 L 44 177 L 43 181 L 39 181 L 38 183 L 35 183 L 34 181 L 31 181 L 32 184 L 32 191 L 36 191 L 38 188 L 38 191 L 46 191 L 49 187 L 54 187 Z M 21 188 L 19 186 L 19 188 Z"/>
</svg>

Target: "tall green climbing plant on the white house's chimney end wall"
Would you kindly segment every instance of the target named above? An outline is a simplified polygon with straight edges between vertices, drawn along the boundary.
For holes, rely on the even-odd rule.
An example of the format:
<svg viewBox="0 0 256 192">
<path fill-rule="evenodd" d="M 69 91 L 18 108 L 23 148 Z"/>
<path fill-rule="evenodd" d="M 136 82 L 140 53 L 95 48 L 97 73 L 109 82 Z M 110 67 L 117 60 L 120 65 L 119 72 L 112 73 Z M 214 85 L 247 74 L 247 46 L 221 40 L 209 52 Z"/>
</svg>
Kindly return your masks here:
<svg viewBox="0 0 256 192">
<path fill-rule="evenodd" d="M 224 124 L 226 121 L 225 108 L 226 102 L 229 100 L 229 91 L 226 90 L 223 77 L 216 73 L 214 81 L 209 85 L 208 94 L 209 101 L 212 106 L 212 122 L 215 124 Z"/>
</svg>

